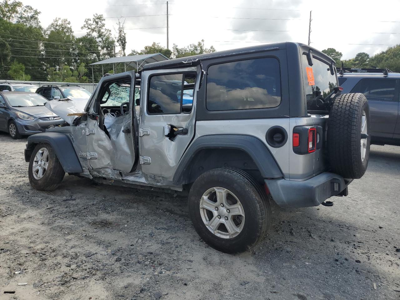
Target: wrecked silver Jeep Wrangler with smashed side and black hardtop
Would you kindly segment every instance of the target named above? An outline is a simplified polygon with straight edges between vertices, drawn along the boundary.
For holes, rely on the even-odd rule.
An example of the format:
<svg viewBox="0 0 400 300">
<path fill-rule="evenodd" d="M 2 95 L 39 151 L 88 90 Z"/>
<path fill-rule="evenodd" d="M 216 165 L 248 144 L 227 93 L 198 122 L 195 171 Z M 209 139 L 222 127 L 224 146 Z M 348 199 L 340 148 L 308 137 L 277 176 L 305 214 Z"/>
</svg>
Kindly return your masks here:
<svg viewBox="0 0 400 300">
<path fill-rule="evenodd" d="M 201 238 L 242 252 L 266 234 L 270 201 L 330 206 L 366 171 L 368 102 L 340 90 L 334 60 L 292 42 L 106 75 L 86 106 L 47 102 L 67 124 L 28 138 L 29 180 L 187 192 Z"/>
</svg>

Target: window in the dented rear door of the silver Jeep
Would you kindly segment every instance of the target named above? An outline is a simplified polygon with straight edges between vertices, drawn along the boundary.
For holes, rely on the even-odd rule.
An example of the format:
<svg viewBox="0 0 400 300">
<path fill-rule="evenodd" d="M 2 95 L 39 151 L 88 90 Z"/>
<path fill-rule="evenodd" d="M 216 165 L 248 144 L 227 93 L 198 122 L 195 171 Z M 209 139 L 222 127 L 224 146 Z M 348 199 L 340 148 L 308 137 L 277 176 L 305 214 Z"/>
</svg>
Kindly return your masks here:
<svg viewBox="0 0 400 300">
<path fill-rule="evenodd" d="M 196 73 L 152 76 L 147 101 L 148 113 L 180 114 L 191 112 L 195 81 Z"/>
</svg>

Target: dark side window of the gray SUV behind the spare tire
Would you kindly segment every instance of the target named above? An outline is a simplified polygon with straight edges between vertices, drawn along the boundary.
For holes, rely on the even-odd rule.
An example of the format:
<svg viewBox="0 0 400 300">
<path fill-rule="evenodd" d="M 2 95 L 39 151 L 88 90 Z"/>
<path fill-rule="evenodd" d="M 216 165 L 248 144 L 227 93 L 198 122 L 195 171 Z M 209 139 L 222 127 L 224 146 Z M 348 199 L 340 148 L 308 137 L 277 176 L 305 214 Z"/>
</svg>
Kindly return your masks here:
<svg viewBox="0 0 400 300">
<path fill-rule="evenodd" d="M 354 86 L 352 93 L 362 93 L 368 100 L 394 101 L 396 80 L 394 79 L 362 79 Z"/>
</svg>

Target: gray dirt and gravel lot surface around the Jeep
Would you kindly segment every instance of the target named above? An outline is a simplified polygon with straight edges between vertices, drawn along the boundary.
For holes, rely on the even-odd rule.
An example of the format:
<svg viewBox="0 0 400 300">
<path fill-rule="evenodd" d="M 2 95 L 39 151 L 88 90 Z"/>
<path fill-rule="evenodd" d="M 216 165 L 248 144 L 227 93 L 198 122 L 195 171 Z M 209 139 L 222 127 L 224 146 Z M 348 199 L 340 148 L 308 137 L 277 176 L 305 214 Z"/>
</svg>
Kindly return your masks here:
<svg viewBox="0 0 400 300">
<path fill-rule="evenodd" d="M 333 207 L 274 206 L 265 240 L 232 256 L 180 196 L 74 176 L 33 190 L 25 144 L 0 134 L 0 300 L 400 299 L 400 147 L 372 146 Z"/>
</svg>

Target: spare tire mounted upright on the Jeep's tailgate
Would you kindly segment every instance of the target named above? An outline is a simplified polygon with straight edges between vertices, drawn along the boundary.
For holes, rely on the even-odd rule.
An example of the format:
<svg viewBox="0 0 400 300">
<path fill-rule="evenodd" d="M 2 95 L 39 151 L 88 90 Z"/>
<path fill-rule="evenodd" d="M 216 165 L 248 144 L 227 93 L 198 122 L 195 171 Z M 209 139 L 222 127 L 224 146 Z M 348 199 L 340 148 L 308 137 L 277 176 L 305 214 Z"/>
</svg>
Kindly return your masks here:
<svg viewBox="0 0 400 300">
<path fill-rule="evenodd" d="M 329 112 L 327 148 L 332 172 L 361 178 L 370 152 L 370 109 L 363 94 L 342 94 Z"/>
</svg>

